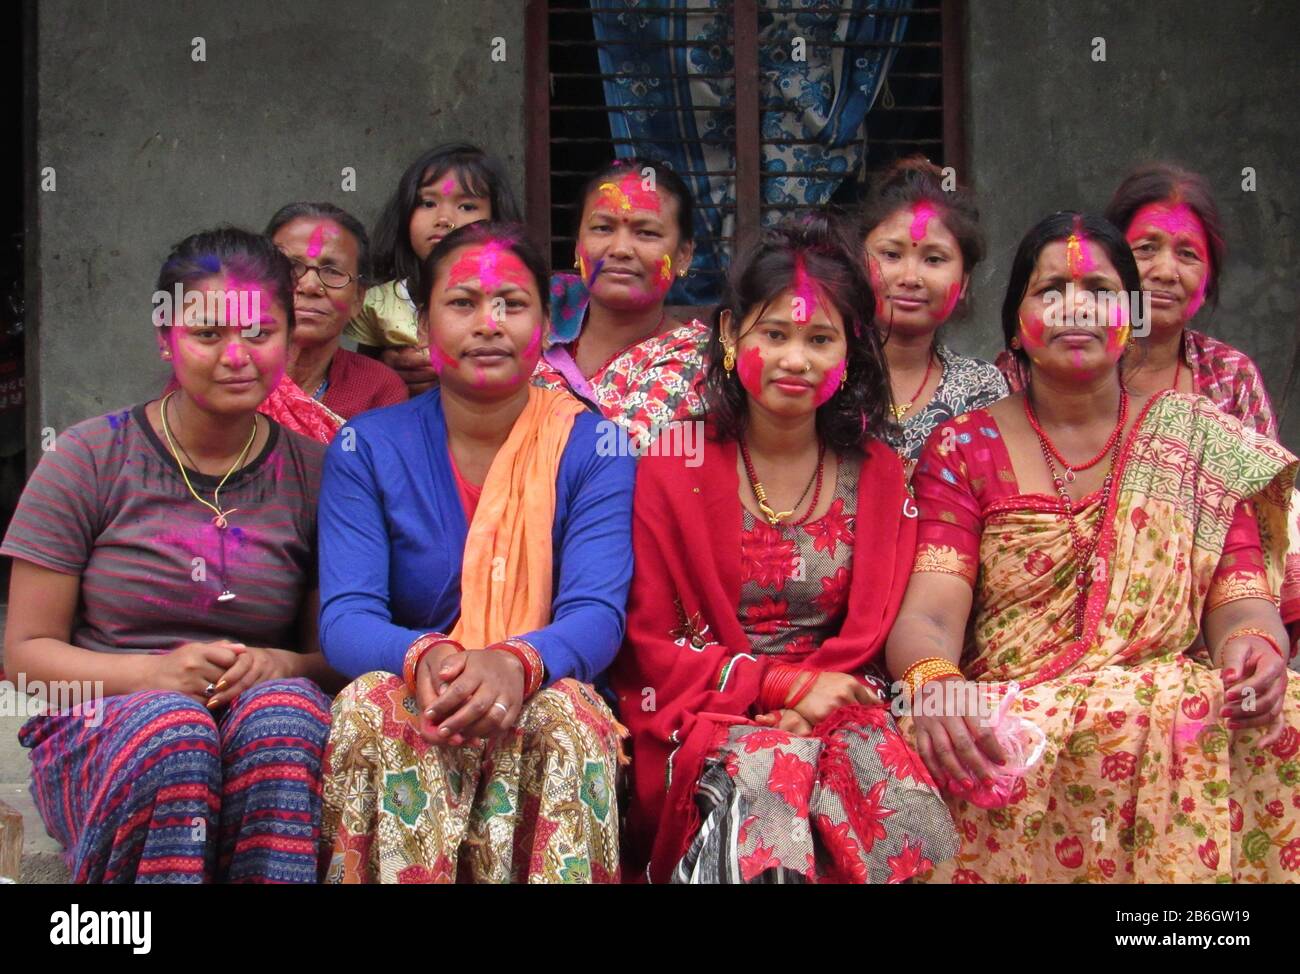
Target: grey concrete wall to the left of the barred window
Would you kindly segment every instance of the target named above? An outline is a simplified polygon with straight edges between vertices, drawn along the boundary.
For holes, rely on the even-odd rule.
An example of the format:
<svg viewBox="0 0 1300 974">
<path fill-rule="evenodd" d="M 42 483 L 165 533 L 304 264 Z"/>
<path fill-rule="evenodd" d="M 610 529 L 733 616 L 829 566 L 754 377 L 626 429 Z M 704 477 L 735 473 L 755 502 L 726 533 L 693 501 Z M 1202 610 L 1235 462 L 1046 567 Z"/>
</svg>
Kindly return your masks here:
<svg viewBox="0 0 1300 974">
<path fill-rule="evenodd" d="M 500 155 L 523 192 L 524 0 L 38 9 L 35 161 L 57 189 L 35 195 L 31 226 L 31 432 L 157 393 L 152 281 L 190 233 L 260 229 L 298 199 L 369 226 L 411 159 L 452 138 Z M 191 59 L 196 36 L 204 62 Z M 495 36 L 504 62 L 491 60 Z M 343 166 L 355 192 L 341 189 Z"/>
</svg>

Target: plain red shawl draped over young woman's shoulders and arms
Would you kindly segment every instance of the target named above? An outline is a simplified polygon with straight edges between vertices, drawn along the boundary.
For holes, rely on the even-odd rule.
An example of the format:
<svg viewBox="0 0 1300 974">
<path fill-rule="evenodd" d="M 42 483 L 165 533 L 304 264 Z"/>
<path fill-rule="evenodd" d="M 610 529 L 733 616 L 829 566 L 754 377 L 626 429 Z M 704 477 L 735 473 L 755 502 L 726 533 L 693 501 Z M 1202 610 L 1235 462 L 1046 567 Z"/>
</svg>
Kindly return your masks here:
<svg viewBox="0 0 1300 974">
<path fill-rule="evenodd" d="M 864 453 L 848 615 L 838 636 L 803 657 L 742 655 L 750 646 L 738 618 L 736 443 L 706 440 L 698 467 L 680 456 L 638 462 L 637 570 L 627 641 L 610 672 L 620 718 L 632 731 L 633 795 L 624 839 L 629 879 L 645 875 L 649 865 L 650 879 L 666 882 L 685 854 L 699 827 L 694 792 L 705 758 L 728 724 L 754 714 L 774 659 L 857 672 L 883 649 L 911 573 L 916 520 L 904 514 L 910 498 L 898 456 L 879 441 L 870 441 Z M 698 649 L 692 633 L 702 633 Z M 728 659 L 734 662 L 719 689 Z"/>
</svg>

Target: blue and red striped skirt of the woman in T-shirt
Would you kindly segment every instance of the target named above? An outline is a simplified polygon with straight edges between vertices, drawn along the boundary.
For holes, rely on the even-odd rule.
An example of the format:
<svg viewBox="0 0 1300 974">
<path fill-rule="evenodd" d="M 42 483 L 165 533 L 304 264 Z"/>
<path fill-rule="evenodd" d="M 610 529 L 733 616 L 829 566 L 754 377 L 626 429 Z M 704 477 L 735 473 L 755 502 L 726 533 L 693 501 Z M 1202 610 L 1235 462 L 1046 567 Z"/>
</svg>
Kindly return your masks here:
<svg viewBox="0 0 1300 974">
<path fill-rule="evenodd" d="M 35 717 L 31 793 L 77 883 L 313 883 L 329 697 L 269 680 L 217 718 L 143 691 Z"/>
</svg>

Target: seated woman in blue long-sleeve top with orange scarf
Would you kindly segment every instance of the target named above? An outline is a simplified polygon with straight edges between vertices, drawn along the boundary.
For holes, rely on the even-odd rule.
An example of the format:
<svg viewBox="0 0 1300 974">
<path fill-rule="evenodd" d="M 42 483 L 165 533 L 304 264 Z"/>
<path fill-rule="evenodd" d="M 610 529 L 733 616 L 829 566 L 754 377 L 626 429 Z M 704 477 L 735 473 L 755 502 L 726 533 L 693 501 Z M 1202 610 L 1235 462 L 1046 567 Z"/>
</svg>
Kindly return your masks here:
<svg viewBox="0 0 1300 974">
<path fill-rule="evenodd" d="M 325 756 L 326 882 L 612 882 L 629 456 L 528 381 L 547 270 L 472 224 L 421 269 L 438 386 L 344 427 L 318 514 L 321 646 L 356 678 Z"/>
</svg>

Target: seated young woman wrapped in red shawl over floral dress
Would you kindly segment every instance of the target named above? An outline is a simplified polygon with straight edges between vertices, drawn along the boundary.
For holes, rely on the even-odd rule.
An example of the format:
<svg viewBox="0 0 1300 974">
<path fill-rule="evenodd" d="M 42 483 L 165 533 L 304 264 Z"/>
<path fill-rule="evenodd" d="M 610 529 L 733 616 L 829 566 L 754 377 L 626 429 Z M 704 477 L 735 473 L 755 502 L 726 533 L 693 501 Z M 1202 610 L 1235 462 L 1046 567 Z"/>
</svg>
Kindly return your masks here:
<svg viewBox="0 0 1300 974">
<path fill-rule="evenodd" d="M 901 882 L 957 848 L 883 702 L 916 528 L 878 438 L 872 307 L 824 224 L 770 231 L 714 316 L 707 440 L 670 428 L 640 462 L 611 671 L 632 732 L 628 876 Z"/>
</svg>

